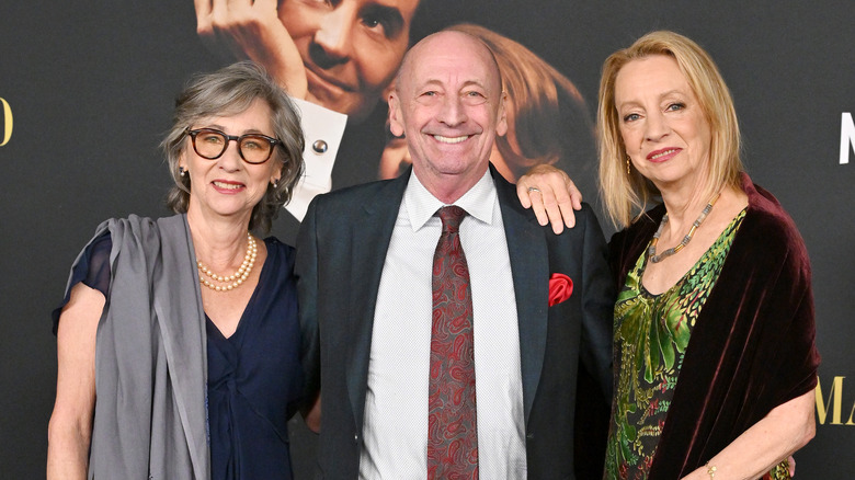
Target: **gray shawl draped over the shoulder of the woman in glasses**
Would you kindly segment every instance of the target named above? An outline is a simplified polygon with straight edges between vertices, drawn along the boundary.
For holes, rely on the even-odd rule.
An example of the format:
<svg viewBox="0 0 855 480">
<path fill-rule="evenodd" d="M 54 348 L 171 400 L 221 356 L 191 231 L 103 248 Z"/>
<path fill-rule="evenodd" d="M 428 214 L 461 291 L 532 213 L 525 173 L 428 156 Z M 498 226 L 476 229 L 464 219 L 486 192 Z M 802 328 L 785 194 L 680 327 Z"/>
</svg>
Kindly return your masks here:
<svg viewBox="0 0 855 480">
<path fill-rule="evenodd" d="M 111 219 L 94 238 L 106 230 L 89 478 L 207 480 L 205 317 L 186 218 Z"/>
</svg>

